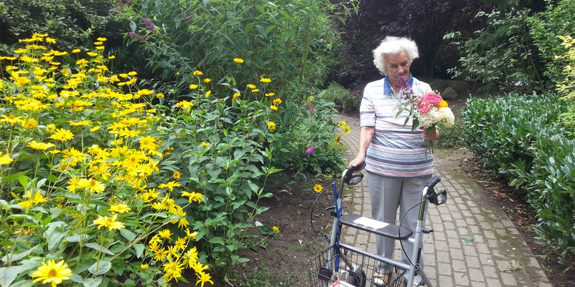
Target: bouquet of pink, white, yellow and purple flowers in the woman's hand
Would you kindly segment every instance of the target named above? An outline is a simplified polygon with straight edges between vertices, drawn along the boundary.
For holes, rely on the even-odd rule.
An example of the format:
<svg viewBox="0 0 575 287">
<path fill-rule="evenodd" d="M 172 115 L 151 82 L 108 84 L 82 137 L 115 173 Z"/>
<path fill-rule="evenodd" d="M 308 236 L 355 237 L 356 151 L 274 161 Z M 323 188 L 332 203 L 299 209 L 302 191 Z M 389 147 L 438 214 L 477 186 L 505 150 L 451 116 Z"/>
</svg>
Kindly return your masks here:
<svg viewBox="0 0 575 287">
<path fill-rule="evenodd" d="M 447 102 L 441 98 L 439 93 L 426 93 L 415 95 L 408 81 L 403 75 L 397 74 L 398 79 L 398 117 L 403 111 L 408 111 L 409 116 L 405 119 L 407 124 L 412 119 L 412 130 L 421 126 L 428 132 L 433 132 L 435 127 L 451 127 L 454 125 L 455 117 Z M 433 153 L 433 142 L 425 140 L 426 148 Z M 427 155 L 427 153 L 426 153 Z"/>
</svg>

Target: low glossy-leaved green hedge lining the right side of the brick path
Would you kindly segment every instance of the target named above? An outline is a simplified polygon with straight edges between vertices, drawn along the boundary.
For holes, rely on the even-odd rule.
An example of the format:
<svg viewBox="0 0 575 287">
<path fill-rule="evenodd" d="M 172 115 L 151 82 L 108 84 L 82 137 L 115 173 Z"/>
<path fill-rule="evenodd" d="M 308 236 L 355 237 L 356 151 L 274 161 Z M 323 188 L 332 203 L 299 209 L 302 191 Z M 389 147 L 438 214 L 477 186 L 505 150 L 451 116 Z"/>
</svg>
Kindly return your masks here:
<svg viewBox="0 0 575 287">
<path fill-rule="evenodd" d="M 470 98 L 462 111 L 464 138 L 512 187 L 525 189 L 539 215 L 539 241 L 567 268 L 575 256 L 575 140 L 558 125 L 567 105 L 557 95 Z"/>
</svg>

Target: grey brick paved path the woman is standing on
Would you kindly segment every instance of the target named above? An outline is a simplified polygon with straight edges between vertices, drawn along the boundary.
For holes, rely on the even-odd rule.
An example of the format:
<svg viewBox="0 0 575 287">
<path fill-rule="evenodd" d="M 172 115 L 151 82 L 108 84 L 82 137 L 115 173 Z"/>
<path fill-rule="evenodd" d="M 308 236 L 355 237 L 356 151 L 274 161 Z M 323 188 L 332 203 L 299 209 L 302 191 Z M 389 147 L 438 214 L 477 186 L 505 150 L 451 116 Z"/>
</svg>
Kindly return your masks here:
<svg viewBox="0 0 575 287">
<path fill-rule="evenodd" d="M 359 119 L 340 117 L 352 127 L 343 136 L 349 161 L 357 155 Z M 485 191 L 449 167 L 435 166 L 442 178 L 437 189 L 447 189 L 448 199 L 445 205 L 430 206 L 426 227 L 434 232 L 424 239 L 425 270 L 433 286 L 551 287 L 513 222 L 499 207 L 482 205 L 477 194 Z M 352 201 L 351 213 L 371 217 L 367 180 L 354 187 Z M 375 252 L 374 235 L 364 231 L 344 228 L 342 242 Z M 396 244 L 396 259 L 400 252 Z"/>
</svg>

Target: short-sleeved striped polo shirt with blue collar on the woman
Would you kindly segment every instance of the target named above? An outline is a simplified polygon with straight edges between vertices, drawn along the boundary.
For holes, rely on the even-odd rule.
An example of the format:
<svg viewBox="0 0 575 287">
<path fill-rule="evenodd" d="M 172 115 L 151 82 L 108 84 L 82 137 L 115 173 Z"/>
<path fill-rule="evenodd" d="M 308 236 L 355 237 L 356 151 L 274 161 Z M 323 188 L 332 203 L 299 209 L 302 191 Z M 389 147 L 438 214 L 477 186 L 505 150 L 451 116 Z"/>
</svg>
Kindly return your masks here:
<svg viewBox="0 0 575 287">
<path fill-rule="evenodd" d="M 416 95 L 431 92 L 431 87 L 410 75 Z M 387 77 L 367 84 L 359 108 L 361 127 L 375 127 L 366 155 L 366 170 L 382 176 L 414 177 L 433 173 L 433 155 L 426 157 L 423 131 L 411 131 L 405 123 L 408 112 L 396 118 L 398 101 Z"/>
</svg>

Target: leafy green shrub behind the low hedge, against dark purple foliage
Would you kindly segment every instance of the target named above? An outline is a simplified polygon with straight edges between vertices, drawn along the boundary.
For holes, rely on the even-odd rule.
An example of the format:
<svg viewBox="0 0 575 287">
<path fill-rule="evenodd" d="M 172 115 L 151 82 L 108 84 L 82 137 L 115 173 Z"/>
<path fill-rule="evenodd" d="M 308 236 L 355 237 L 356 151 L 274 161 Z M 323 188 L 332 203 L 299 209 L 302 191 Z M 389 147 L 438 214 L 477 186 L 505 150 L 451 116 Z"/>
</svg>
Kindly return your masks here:
<svg viewBox="0 0 575 287">
<path fill-rule="evenodd" d="M 530 10 L 511 10 L 502 14 L 479 12 L 486 17 L 485 29 L 476 38 L 459 42 L 461 70 L 450 70 L 455 77 L 486 84 L 484 89 L 507 88 L 530 92 L 542 88 L 537 54 L 534 53 L 526 19 Z"/>
</svg>

